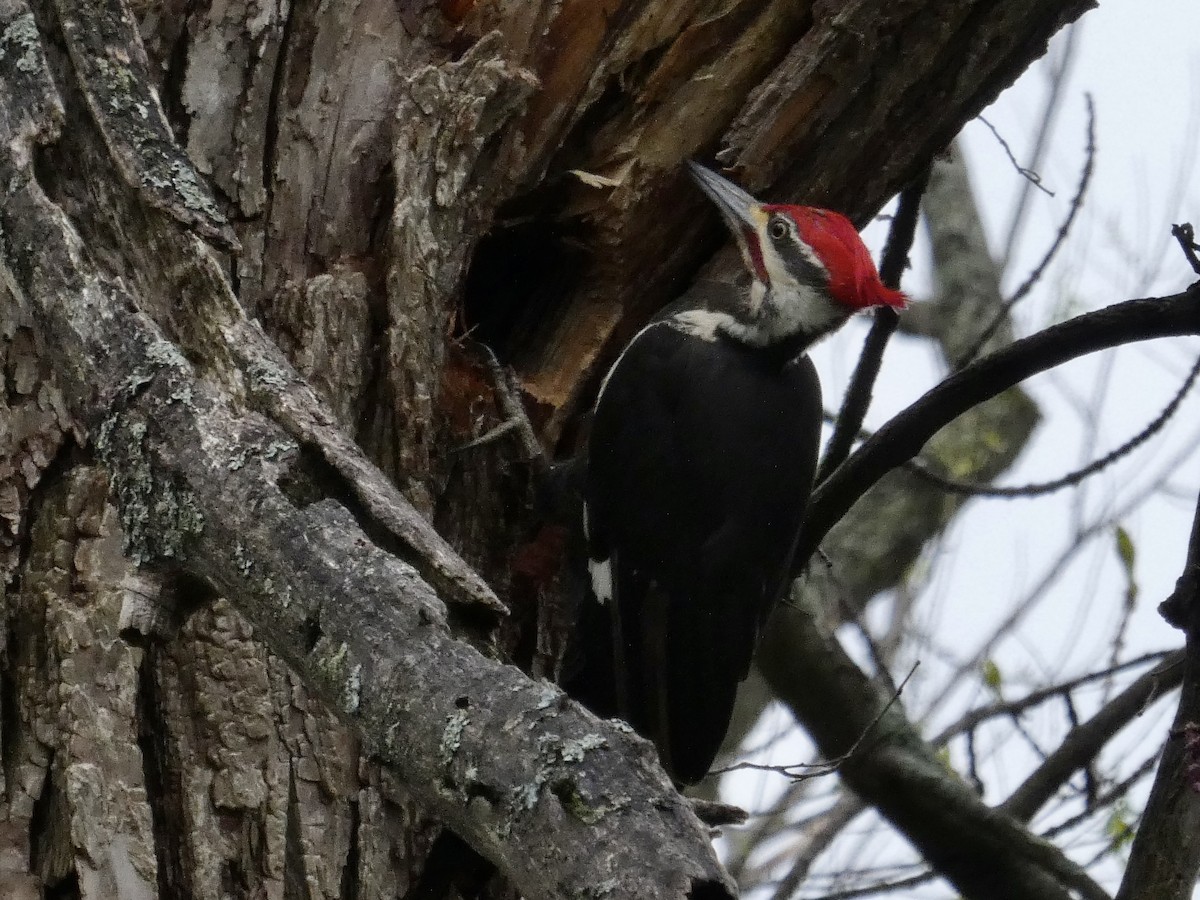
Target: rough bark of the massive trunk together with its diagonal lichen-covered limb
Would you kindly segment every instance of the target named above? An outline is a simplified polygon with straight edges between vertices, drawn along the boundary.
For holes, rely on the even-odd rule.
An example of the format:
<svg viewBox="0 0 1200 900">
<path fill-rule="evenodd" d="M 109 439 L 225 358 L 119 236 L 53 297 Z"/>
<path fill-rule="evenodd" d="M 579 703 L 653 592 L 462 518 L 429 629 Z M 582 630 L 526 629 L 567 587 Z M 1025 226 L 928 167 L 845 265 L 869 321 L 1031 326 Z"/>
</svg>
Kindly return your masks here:
<svg viewBox="0 0 1200 900">
<path fill-rule="evenodd" d="M 644 744 L 490 655 L 557 559 L 514 448 L 448 452 L 499 418 L 451 338 L 569 443 L 715 246 L 680 160 L 862 217 L 1087 5 L 0 2 L 7 895 L 391 896 L 430 811 L 529 896 L 730 890 Z"/>
</svg>

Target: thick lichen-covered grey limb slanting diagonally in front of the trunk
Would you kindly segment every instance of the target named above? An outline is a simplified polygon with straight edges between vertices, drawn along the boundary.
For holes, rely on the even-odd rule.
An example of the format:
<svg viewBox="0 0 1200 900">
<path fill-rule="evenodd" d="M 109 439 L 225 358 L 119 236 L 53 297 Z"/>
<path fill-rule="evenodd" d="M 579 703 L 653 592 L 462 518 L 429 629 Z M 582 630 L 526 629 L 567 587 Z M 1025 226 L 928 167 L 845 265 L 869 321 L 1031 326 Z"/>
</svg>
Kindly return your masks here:
<svg viewBox="0 0 1200 900">
<path fill-rule="evenodd" d="M 647 742 L 454 640 L 415 569 L 341 504 L 304 505 L 281 487 L 305 479 L 293 437 L 197 377 L 139 298 L 96 268 L 34 179 L 34 144 L 53 138 L 62 112 L 32 18 L 16 2 L 0 17 L 4 276 L 52 342 L 65 396 L 112 473 L 127 554 L 228 596 L 359 727 L 368 752 L 526 896 L 732 896 Z M 230 344 L 253 331 L 215 328 Z M 256 349 L 228 354 L 266 365 L 247 372 L 259 394 L 275 382 L 276 398 L 294 397 L 290 370 Z M 319 428 L 317 415 L 301 404 L 295 418 Z M 336 460 L 337 448 L 323 451 Z"/>
</svg>

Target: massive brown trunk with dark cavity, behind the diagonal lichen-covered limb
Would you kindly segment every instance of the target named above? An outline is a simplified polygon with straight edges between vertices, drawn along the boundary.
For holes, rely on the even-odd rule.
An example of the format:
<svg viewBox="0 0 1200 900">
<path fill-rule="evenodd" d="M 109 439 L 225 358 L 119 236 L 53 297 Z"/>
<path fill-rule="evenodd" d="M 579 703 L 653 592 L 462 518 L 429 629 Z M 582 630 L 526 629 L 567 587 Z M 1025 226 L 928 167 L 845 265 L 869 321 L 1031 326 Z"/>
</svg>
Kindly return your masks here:
<svg viewBox="0 0 1200 900">
<path fill-rule="evenodd" d="M 683 160 L 715 154 L 750 190 L 862 221 L 1088 5 L 11 0 L 0 46 L 34 61 L 6 70 L 8 94 L 44 54 L 61 110 L 10 109 L 32 150 L 13 142 L 5 172 L 32 173 L 198 390 L 316 433 L 290 395 L 263 398 L 275 359 L 238 355 L 257 325 L 204 299 L 227 282 L 482 581 L 420 524 L 372 524 L 379 492 L 347 488 L 328 443 L 305 457 L 296 505 L 350 509 L 347 533 L 358 523 L 436 589 L 455 646 L 540 673 L 560 637 L 563 539 L 539 522 L 516 442 L 454 451 L 503 419 L 475 341 L 516 368 L 541 438 L 569 455 L 600 368 L 718 248 Z M 155 132 L 160 101 L 186 156 Z M 38 241 L 6 228 L 0 893 L 403 895 L 437 786 L 382 768 L 342 721 L 353 710 L 330 712 L 336 691 L 289 667 L 302 654 L 287 635 L 256 632 L 253 602 L 221 588 L 251 568 L 242 544 L 223 565 L 190 556 L 211 508 L 161 528 L 178 494 L 138 486 L 125 450 L 101 446 L 100 395 L 29 288 Z M 692 889 L 720 883 L 706 865 L 686 869 Z M 528 895 L 534 877 L 517 877 Z"/>
</svg>

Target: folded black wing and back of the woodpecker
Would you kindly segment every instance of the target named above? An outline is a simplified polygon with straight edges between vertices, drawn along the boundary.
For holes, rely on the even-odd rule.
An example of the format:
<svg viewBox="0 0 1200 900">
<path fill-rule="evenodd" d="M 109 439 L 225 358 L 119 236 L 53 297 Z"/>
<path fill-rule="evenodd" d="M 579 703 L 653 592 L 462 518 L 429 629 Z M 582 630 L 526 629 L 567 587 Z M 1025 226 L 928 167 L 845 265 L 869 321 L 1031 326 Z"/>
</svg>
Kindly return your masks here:
<svg viewBox="0 0 1200 900">
<path fill-rule="evenodd" d="M 614 682 L 593 703 L 653 739 L 680 781 L 712 764 L 787 584 L 820 428 L 806 356 L 781 367 L 670 323 L 643 330 L 601 390 L 584 500 L 612 596 L 583 617 L 607 624 L 595 649 Z"/>
</svg>

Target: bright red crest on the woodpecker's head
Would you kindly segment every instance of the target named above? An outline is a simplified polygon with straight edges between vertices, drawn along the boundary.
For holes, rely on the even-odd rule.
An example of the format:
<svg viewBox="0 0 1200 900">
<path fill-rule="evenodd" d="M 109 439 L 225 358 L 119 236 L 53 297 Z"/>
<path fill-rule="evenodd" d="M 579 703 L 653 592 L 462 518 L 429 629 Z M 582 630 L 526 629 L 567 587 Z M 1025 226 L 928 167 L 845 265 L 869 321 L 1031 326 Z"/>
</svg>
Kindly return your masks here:
<svg viewBox="0 0 1200 900">
<path fill-rule="evenodd" d="M 815 206 L 770 205 L 767 212 L 784 212 L 796 222 L 800 239 L 812 247 L 829 271 L 829 294 L 854 310 L 893 306 L 902 310 L 908 301 L 901 292 L 880 281 L 858 229 L 840 212 Z"/>
</svg>

